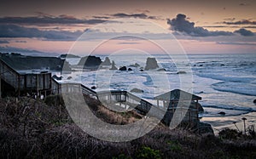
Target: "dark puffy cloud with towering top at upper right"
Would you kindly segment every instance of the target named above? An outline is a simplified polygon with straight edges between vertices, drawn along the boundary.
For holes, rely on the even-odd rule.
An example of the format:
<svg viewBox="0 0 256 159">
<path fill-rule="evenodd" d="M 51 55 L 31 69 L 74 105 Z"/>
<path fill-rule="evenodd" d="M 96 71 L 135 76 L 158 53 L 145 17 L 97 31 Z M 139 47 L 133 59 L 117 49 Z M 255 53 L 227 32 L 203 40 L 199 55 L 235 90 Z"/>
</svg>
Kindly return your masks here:
<svg viewBox="0 0 256 159">
<path fill-rule="evenodd" d="M 171 26 L 172 31 L 179 31 L 194 37 L 211 37 L 211 36 L 230 36 L 232 32 L 228 31 L 208 31 L 203 27 L 195 26 L 194 22 L 187 20 L 185 14 L 177 14 L 172 20 L 167 20 L 167 24 Z"/>
</svg>

